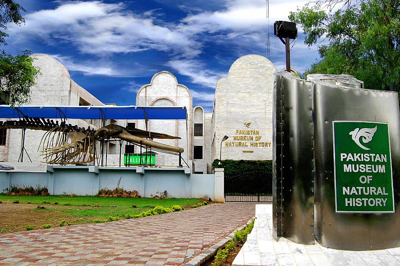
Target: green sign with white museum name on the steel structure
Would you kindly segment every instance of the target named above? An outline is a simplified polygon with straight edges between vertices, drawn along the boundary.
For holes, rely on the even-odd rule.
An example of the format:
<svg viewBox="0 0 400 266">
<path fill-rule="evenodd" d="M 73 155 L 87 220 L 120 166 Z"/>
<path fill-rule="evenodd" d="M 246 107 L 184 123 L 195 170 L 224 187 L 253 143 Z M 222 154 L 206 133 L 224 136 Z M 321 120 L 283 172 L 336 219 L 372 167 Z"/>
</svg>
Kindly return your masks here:
<svg viewBox="0 0 400 266">
<path fill-rule="evenodd" d="M 336 213 L 393 213 L 387 123 L 333 121 Z"/>
</svg>

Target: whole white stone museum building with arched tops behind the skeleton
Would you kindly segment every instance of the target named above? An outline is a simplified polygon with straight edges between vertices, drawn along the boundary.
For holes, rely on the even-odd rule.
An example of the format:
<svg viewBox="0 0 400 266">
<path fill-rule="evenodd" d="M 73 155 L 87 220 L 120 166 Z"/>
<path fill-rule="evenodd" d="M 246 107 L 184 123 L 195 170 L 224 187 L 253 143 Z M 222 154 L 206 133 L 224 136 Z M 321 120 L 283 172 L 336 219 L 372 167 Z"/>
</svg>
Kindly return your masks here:
<svg viewBox="0 0 400 266">
<path fill-rule="evenodd" d="M 84 88 L 76 84 L 68 70 L 53 57 L 36 53 L 34 65 L 42 75 L 31 88 L 29 105 L 46 106 L 102 106 Z M 160 143 L 184 149 L 181 157 L 183 167 L 192 173 L 211 173 L 211 163 L 221 157 L 233 160 L 272 159 L 272 88 L 274 65 L 260 55 L 245 55 L 233 62 L 227 76 L 220 78 L 215 87 L 212 113 L 201 106 L 193 107 L 190 90 L 179 84 L 168 71 L 154 74 L 150 82 L 139 88 L 137 106 L 184 106 L 185 120 L 149 120 L 147 130 L 178 136 L 180 139 L 157 140 Z M 79 127 L 99 128 L 101 120 L 68 119 L 67 123 Z M 106 124 L 146 129 L 144 120 L 106 120 Z M 2 129 L 0 138 L 0 161 L 17 162 L 21 159 L 21 129 Z M 44 132 L 25 131 L 23 161 L 43 161 L 39 145 Z M 224 136 L 227 136 L 224 138 Z M 106 143 L 106 161 L 101 165 L 123 166 L 123 156 L 137 154 L 139 147 L 118 141 Z M 27 158 L 28 157 L 28 158 Z M 176 155 L 154 153 L 156 166 L 176 167 Z M 186 165 L 187 164 L 187 165 Z M 133 166 L 133 165 L 130 165 Z"/>
</svg>

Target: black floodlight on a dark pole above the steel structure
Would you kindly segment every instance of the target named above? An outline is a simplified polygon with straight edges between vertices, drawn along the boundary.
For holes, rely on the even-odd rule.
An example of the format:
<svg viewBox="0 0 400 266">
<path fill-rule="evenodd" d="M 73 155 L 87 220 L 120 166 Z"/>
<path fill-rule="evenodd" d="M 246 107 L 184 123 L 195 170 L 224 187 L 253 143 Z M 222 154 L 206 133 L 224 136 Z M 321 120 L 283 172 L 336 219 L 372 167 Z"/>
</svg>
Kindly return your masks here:
<svg viewBox="0 0 400 266">
<path fill-rule="evenodd" d="M 290 21 L 278 20 L 273 23 L 273 35 L 278 37 L 286 46 L 286 71 L 291 73 L 290 69 L 290 39 L 297 38 L 296 23 Z M 284 39 L 284 40 L 283 40 Z"/>
</svg>

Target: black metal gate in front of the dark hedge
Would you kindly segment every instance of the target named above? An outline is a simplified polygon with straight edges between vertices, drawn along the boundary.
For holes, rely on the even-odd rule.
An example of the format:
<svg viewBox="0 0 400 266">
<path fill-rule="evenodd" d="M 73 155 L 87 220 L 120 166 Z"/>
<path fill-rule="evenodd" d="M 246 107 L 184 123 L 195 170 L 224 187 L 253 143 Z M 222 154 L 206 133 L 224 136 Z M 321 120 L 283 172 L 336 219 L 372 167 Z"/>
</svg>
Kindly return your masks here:
<svg viewBox="0 0 400 266">
<path fill-rule="evenodd" d="M 267 171 L 225 174 L 226 202 L 272 202 L 272 175 Z"/>
</svg>

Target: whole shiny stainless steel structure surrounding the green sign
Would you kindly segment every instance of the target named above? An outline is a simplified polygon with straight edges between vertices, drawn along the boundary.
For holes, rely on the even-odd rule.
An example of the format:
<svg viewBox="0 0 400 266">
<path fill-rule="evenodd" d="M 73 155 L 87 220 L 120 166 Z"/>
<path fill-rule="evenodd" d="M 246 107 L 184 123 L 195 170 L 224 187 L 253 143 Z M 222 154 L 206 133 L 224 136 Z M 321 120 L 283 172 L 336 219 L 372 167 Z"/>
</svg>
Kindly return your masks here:
<svg viewBox="0 0 400 266">
<path fill-rule="evenodd" d="M 344 250 L 400 246 L 400 116 L 395 92 L 348 75 L 277 73 L 274 88 L 274 238 Z M 335 213 L 332 121 L 389 125 L 395 213 Z"/>
</svg>

